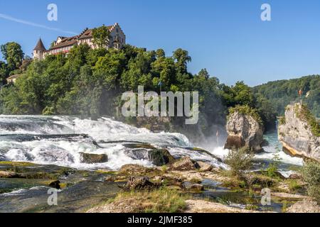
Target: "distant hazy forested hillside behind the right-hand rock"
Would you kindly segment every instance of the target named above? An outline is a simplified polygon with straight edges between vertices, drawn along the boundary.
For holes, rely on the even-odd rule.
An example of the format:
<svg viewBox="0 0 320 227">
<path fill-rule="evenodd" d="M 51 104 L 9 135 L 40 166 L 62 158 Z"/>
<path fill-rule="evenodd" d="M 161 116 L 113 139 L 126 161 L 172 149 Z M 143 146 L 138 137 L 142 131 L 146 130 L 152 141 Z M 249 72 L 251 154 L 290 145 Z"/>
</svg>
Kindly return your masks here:
<svg viewBox="0 0 320 227">
<path fill-rule="evenodd" d="M 301 97 L 299 90 L 302 91 Z M 253 92 L 257 97 L 262 96 L 271 101 L 279 116 L 284 114 L 285 106 L 290 102 L 302 99 L 313 114 L 320 118 L 320 75 L 268 82 L 254 87 Z"/>
</svg>

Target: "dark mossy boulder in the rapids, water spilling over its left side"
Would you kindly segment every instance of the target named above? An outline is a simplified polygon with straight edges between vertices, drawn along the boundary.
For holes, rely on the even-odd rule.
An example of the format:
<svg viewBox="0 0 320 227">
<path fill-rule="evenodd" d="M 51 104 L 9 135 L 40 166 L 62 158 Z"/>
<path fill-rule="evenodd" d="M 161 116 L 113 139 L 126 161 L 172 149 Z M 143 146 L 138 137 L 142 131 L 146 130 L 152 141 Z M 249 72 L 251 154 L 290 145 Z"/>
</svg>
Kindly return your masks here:
<svg viewBox="0 0 320 227">
<path fill-rule="evenodd" d="M 132 149 L 124 152 L 134 160 L 149 160 L 156 166 L 162 166 L 174 162 L 174 157 L 166 149 Z"/>
</svg>

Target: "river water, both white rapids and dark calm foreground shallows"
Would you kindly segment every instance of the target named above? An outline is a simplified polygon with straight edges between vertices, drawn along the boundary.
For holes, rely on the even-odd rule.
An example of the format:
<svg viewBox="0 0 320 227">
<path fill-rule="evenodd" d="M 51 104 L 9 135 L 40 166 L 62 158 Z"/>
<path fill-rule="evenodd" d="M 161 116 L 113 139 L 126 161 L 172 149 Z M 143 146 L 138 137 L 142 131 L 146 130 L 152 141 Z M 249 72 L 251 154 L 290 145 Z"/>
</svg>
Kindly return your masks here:
<svg viewBox="0 0 320 227">
<path fill-rule="evenodd" d="M 276 154 L 281 160 L 279 170 L 285 177 L 292 173 L 292 167 L 303 165 L 301 158 L 282 152 L 277 132 L 266 133 L 265 141 L 265 151 L 255 155 L 254 170 L 267 167 Z M 138 143 L 166 148 L 176 158 L 189 156 L 193 160 L 209 162 L 215 167 L 228 168 L 223 163 L 228 150 L 215 145 L 193 145 L 180 133 L 152 133 L 145 128 L 135 128 L 112 118 L 90 121 L 72 116 L 0 116 L 0 161 L 33 162 L 41 165 L 19 167 L 20 170 L 27 171 L 52 172 L 55 169 L 60 171 L 60 167 L 80 170 L 70 175 L 68 180 L 62 179 L 62 182 L 68 182 L 70 186 L 59 193 L 59 206 L 48 206 L 47 191 L 50 187 L 43 185 L 43 179 L 1 179 L 0 212 L 82 212 L 90 204 L 101 203 L 115 196 L 119 187 L 117 183 L 105 182 L 102 174 L 92 170 L 119 170 L 126 164 L 152 167 L 151 161 L 129 155 L 130 150 L 135 148 L 128 144 Z M 208 153 L 192 149 L 194 147 L 206 148 Z M 85 164 L 82 163 L 80 153 L 105 154 L 108 161 Z M 245 206 L 246 199 L 258 204 L 260 199 L 230 192 L 218 187 L 215 182 L 205 180 L 203 185 L 206 191 L 198 196 L 215 201 L 226 197 L 230 206 Z M 281 212 L 282 205 L 272 201 L 272 210 Z"/>
</svg>

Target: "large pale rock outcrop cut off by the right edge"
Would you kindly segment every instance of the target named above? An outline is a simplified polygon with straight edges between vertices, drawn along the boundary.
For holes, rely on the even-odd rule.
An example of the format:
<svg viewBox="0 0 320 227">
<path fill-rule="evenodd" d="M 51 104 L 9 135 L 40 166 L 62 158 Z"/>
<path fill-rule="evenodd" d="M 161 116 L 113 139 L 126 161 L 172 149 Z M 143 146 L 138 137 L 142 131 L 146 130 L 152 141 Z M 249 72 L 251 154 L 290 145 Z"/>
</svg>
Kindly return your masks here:
<svg viewBox="0 0 320 227">
<path fill-rule="evenodd" d="M 320 137 L 314 135 L 302 104 L 289 105 L 278 126 L 283 150 L 296 156 L 320 161 Z"/>
</svg>

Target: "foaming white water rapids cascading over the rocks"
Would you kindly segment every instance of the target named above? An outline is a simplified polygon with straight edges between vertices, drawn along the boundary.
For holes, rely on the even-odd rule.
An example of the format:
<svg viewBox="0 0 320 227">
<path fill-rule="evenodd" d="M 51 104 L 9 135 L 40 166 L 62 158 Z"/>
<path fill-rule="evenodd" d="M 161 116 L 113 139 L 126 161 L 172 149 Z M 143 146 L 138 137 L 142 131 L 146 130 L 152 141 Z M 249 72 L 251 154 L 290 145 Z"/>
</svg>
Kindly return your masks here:
<svg viewBox="0 0 320 227">
<path fill-rule="evenodd" d="M 64 138 L 64 135 L 85 134 Z M 53 136 L 54 135 L 54 136 Z M 59 136 L 60 135 L 60 136 Z M 126 155 L 124 143 L 149 143 L 156 148 L 167 148 L 175 157 L 189 156 L 204 160 L 216 167 L 226 167 L 206 153 L 186 148 L 193 144 L 180 133 L 152 133 L 111 118 L 98 121 L 81 120 L 71 116 L 0 116 L 0 160 L 34 162 L 41 165 L 61 165 L 78 169 L 109 168 L 118 170 L 122 165 L 152 166 L 149 160 L 134 160 Z M 271 145 L 257 159 L 271 160 L 275 149 Z M 212 148 L 210 153 L 222 157 L 223 148 Z M 85 164 L 79 153 L 106 154 L 108 162 Z M 282 162 L 302 165 L 302 160 L 279 152 Z"/>
</svg>

